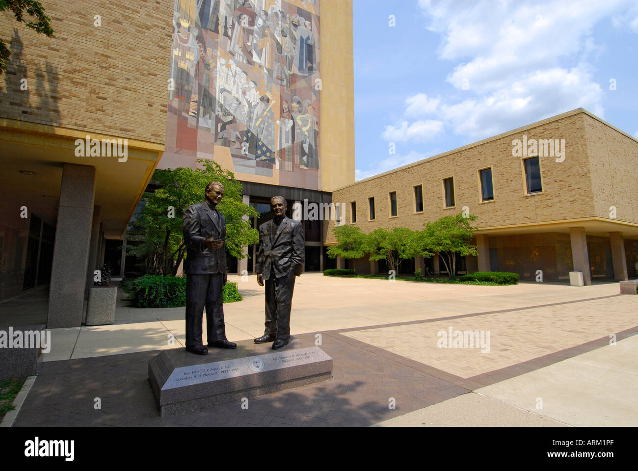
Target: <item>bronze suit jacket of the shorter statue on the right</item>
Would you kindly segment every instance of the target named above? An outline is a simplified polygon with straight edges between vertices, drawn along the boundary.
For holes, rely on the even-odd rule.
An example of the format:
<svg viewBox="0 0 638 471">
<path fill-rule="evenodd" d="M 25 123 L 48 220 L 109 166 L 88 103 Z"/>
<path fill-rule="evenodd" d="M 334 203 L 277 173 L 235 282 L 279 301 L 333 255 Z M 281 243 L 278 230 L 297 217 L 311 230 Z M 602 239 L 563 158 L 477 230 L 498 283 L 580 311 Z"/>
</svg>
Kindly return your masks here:
<svg viewBox="0 0 638 471">
<path fill-rule="evenodd" d="M 304 229 L 299 221 L 284 217 L 274 238 L 272 221 L 259 227 L 259 246 L 256 253 L 255 272 L 269 280 L 271 267 L 275 276 L 281 278 L 293 270 L 296 276 L 304 271 L 306 260 Z"/>
</svg>

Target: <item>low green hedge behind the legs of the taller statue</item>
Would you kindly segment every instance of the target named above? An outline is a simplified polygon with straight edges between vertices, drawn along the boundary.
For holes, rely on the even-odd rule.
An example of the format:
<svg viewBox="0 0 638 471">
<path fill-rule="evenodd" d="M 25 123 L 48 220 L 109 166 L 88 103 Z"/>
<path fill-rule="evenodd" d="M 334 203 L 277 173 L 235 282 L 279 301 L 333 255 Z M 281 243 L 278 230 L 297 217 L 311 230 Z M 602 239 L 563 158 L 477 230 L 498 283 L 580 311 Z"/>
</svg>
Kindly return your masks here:
<svg viewBox="0 0 638 471">
<path fill-rule="evenodd" d="M 186 278 L 175 276 L 144 275 L 127 281 L 123 287 L 132 295 L 136 308 L 183 308 L 186 306 Z M 223 289 L 224 303 L 242 301 L 237 283 L 226 283 Z"/>
</svg>

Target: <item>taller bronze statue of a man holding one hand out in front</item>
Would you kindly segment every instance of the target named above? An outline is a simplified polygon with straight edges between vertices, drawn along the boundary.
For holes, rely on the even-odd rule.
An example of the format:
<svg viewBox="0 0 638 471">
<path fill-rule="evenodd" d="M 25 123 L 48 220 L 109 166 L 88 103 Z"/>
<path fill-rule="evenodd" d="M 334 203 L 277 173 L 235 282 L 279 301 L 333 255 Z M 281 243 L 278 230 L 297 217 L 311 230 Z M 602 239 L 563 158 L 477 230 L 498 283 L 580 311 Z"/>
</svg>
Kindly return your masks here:
<svg viewBox="0 0 638 471">
<path fill-rule="evenodd" d="M 226 267 L 226 220 L 217 206 L 226 190 L 223 184 L 211 182 L 206 199 L 184 211 L 186 243 L 186 350 L 207 355 L 202 343 L 202 320 L 206 307 L 208 347 L 237 348 L 226 339 L 223 287 Z"/>
</svg>

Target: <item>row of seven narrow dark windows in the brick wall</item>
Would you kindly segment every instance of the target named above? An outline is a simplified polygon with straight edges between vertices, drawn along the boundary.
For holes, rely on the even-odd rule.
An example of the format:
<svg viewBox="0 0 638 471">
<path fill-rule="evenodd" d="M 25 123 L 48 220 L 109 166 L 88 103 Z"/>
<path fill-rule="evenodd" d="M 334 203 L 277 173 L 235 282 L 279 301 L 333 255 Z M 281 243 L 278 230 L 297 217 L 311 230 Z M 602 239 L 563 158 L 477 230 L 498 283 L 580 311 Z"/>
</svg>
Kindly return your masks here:
<svg viewBox="0 0 638 471">
<path fill-rule="evenodd" d="M 543 191 L 541 179 L 540 179 L 540 161 L 538 157 L 530 157 L 523 160 L 523 171 L 525 177 L 525 187 L 527 194 L 541 193 Z M 492 177 L 492 167 L 483 168 L 479 170 L 479 186 L 482 202 L 489 202 L 494 200 L 494 181 Z M 394 218 L 398 216 L 397 212 L 397 193 L 392 191 L 389 193 L 390 199 L 390 217 Z M 456 207 L 456 200 L 454 194 L 454 177 L 443 179 L 443 204 L 446 208 Z M 415 213 L 423 212 L 423 186 L 418 185 L 414 187 L 414 206 Z M 357 204 L 355 202 L 350 203 L 350 209 L 352 210 L 352 223 L 357 223 Z M 368 198 L 369 220 L 374 221 L 376 219 L 375 214 L 375 197 Z"/>
</svg>

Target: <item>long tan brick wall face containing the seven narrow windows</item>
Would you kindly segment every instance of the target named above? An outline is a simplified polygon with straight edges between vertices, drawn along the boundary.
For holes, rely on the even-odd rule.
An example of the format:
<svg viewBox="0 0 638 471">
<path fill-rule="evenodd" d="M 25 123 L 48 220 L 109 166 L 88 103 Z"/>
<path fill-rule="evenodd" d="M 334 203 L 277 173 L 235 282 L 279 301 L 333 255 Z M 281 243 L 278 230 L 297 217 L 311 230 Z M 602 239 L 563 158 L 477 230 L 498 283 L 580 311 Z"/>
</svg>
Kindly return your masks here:
<svg viewBox="0 0 638 471">
<path fill-rule="evenodd" d="M 467 206 L 479 219 L 481 228 L 518 225 L 595 216 L 587 157 L 585 121 L 582 112 L 570 112 L 560 119 L 547 119 L 443 156 L 409 165 L 382 176 L 360 181 L 334 191 L 332 200 L 346 203 L 347 222 L 351 221 L 350 202 L 357 202 L 357 225 L 370 232 L 379 227 L 420 229 L 426 221 L 458 214 Z M 526 195 L 521 158 L 512 156 L 512 140 L 565 139 L 565 160 L 540 158 L 543 193 Z M 627 137 L 623 137 L 627 139 Z M 494 201 L 480 202 L 477 172 L 492 167 Z M 456 207 L 443 208 L 443 178 L 454 177 Z M 414 213 L 413 186 L 422 185 L 424 213 Z M 397 192 L 398 217 L 389 217 L 389 192 Z M 376 221 L 368 221 L 367 198 L 375 197 Z M 608 211 L 607 211 L 608 212 Z M 334 243 L 334 222 L 325 227 L 326 243 Z"/>
</svg>

